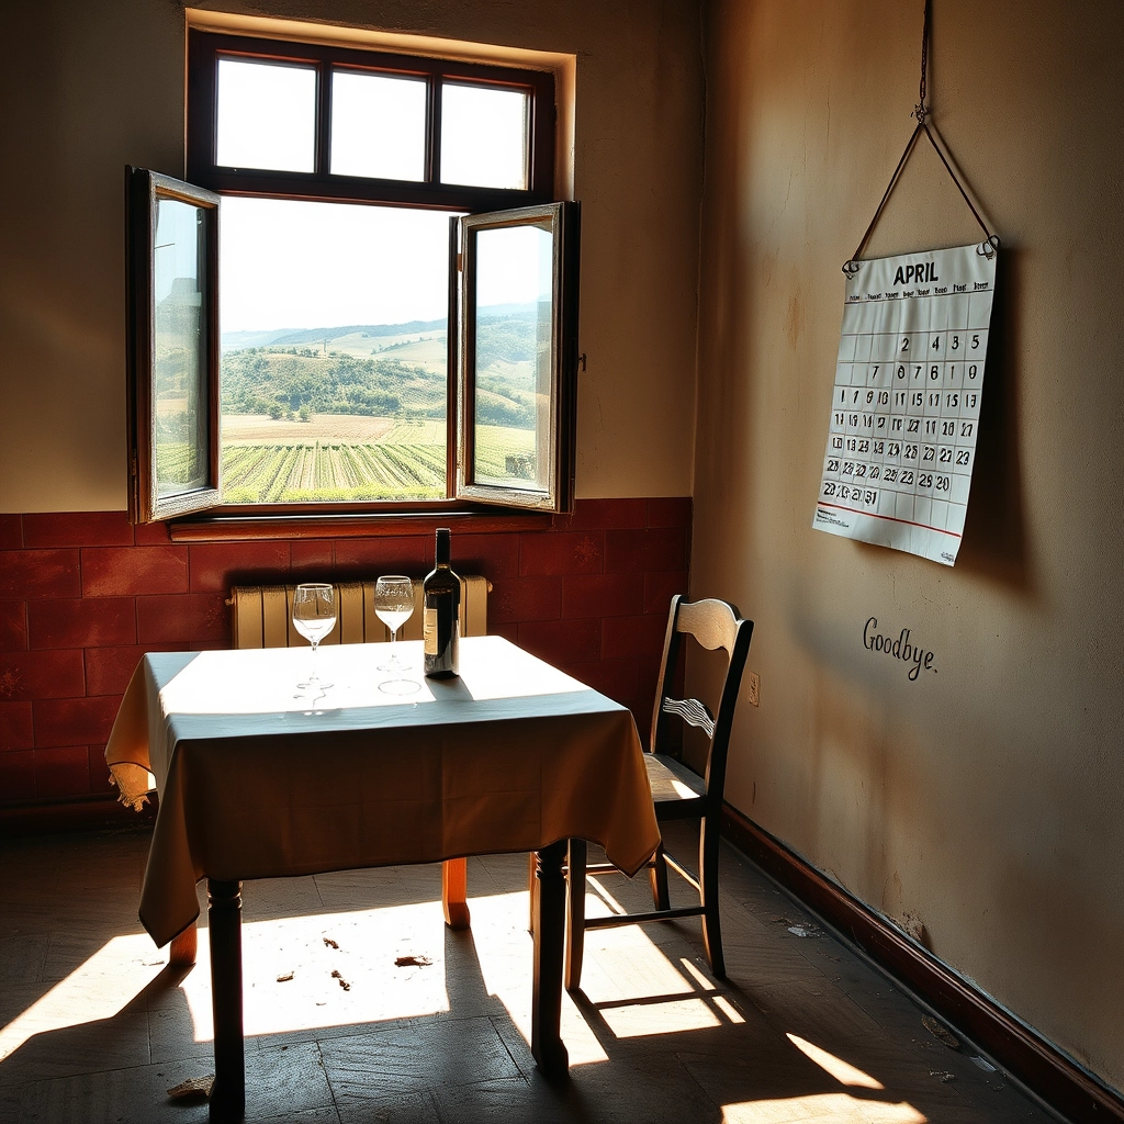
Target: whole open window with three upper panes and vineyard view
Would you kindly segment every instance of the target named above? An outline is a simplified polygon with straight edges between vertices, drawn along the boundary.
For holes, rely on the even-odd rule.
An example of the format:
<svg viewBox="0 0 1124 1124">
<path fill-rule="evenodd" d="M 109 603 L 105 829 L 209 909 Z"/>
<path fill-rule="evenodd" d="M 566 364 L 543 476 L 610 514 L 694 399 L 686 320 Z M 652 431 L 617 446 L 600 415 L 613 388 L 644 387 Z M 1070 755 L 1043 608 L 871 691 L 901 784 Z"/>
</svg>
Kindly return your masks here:
<svg viewBox="0 0 1124 1124">
<path fill-rule="evenodd" d="M 132 170 L 130 510 L 565 510 L 577 203 L 553 75 L 189 33 Z"/>
</svg>

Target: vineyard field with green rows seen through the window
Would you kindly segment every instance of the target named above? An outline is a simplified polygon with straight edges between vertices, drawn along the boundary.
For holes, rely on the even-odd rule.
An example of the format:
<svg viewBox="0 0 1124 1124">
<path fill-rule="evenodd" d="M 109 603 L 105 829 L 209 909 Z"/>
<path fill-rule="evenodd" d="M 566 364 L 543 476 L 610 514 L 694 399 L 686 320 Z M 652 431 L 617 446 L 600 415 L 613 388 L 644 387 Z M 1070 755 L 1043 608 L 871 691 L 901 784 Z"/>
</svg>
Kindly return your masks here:
<svg viewBox="0 0 1124 1124">
<path fill-rule="evenodd" d="M 230 439 L 234 434 L 241 439 Z M 533 460 L 531 430 L 486 426 L 479 436 L 478 468 L 488 477 L 506 478 L 508 457 Z M 224 416 L 223 437 L 227 504 L 445 496 L 443 420 L 314 415 L 302 423 L 236 415 Z"/>
</svg>

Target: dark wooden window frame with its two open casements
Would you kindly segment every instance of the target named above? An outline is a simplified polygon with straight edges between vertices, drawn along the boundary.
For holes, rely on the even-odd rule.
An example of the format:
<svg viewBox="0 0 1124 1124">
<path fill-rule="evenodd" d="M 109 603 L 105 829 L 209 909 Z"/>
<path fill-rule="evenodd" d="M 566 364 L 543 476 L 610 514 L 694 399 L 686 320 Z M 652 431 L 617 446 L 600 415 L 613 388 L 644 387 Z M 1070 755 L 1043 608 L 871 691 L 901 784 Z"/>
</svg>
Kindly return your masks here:
<svg viewBox="0 0 1124 1124">
<path fill-rule="evenodd" d="M 223 57 L 260 58 L 277 63 L 293 63 L 314 66 L 316 69 L 316 161 L 312 172 L 281 172 L 260 169 L 228 169 L 217 164 L 217 78 L 218 64 Z M 383 72 L 391 74 L 408 74 L 425 78 L 428 82 L 427 117 L 426 117 L 426 160 L 425 174 L 427 179 L 417 181 L 395 181 L 366 176 L 334 175 L 327 169 L 330 160 L 330 90 L 332 69 L 342 66 L 348 71 Z M 290 39 L 273 39 L 226 33 L 203 31 L 190 28 L 188 33 L 188 120 L 187 120 L 187 167 L 190 183 L 160 176 L 158 173 L 146 173 L 143 170 L 130 170 L 130 183 L 140 182 L 144 175 L 155 180 L 164 180 L 174 184 L 182 192 L 199 192 L 199 197 L 212 194 L 216 202 L 221 196 L 248 196 L 260 198 L 282 198 L 308 200 L 316 202 L 368 203 L 382 206 L 419 207 L 433 210 L 462 211 L 469 215 L 492 211 L 506 211 L 526 206 L 540 206 L 556 199 L 554 188 L 555 158 L 555 81 L 553 70 L 515 69 L 510 66 L 486 63 L 459 62 L 438 56 L 422 56 L 391 54 L 384 51 L 341 47 L 306 43 Z M 442 184 L 439 175 L 441 155 L 441 98 L 439 85 L 443 80 L 466 82 L 493 87 L 516 87 L 528 92 L 528 137 L 527 137 L 527 174 L 526 190 L 481 188 L 472 185 Z M 188 197 L 196 200 L 194 196 Z M 552 386 L 562 390 L 563 402 L 555 410 L 555 424 L 565 428 L 553 434 L 556 464 L 552 471 L 551 496 L 547 502 L 535 496 L 532 502 L 526 502 L 526 496 L 490 495 L 493 489 L 484 489 L 480 493 L 464 497 L 459 488 L 462 465 L 461 415 L 457 409 L 459 383 L 461 382 L 460 359 L 462 355 L 462 338 L 460 325 L 460 296 L 462 284 L 462 255 L 460 253 L 460 221 L 452 217 L 450 234 L 450 277 L 447 309 L 447 356 L 446 371 L 446 496 L 441 499 L 416 500 L 366 500 L 366 501 L 311 501 L 279 504 L 224 504 L 219 490 L 219 461 L 221 456 L 220 439 L 220 345 L 218 336 L 218 236 L 217 218 L 214 225 L 211 253 L 208 260 L 212 271 L 214 284 L 210 288 L 211 318 L 209 321 L 211 338 L 208 341 L 208 355 L 211 362 L 208 370 L 210 402 L 208 415 L 207 462 L 210 475 L 209 487 L 194 495 L 176 497 L 175 502 L 154 506 L 145 499 L 143 482 L 137 475 L 140 464 L 147 465 L 151 483 L 146 487 L 155 489 L 155 465 L 152 430 L 152 398 L 154 393 L 155 370 L 153 366 L 151 338 L 152 318 L 143 320 L 138 314 L 138 301 L 151 301 L 152 270 L 144 269 L 140 257 L 151 247 L 153 227 L 144 228 L 139 219 L 138 200 L 130 187 L 129 207 L 129 338 L 130 338 L 130 379 L 129 379 L 129 442 L 130 442 L 130 489 L 129 510 L 134 522 L 152 522 L 173 519 L 180 516 L 194 516 L 188 523 L 180 523 L 184 532 L 193 535 L 200 533 L 200 526 L 210 524 L 216 529 L 225 529 L 226 537 L 235 525 L 243 528 L 260 526 L 260 533 L 274 536 L 279 526 L 288 524 L 294 532 L 307 532 L 311 524 L 325 527 L 347 524 L 354 533 L 354 523 L 364 517 L 379 525 L 390 522 L 417 518 L 432 519 L 438 513 L 470 516 L 472 513 L 495 513 L 490 518 L 510 518 L 517 511 L 500 513 L 499 507 L 519 508 L 524 518 L 542 517 L 546 514 L 572 511 L 573 506 L 573 444 L 574 444 L 574 408 L 573 397 L 577 382 L 577 301 L 574 315 L 565 321 L 566 330 L 555 327 L 553 339 L 561 348 L 565 342 L 564 354 L 569 374 L 553 380 Z M 149 205 L 149 210 L 153 205 Z M 577 215 L 575 203 L 565 205 Z M 568 229 L 577 232 L 577 218 L 571 220 Z M 556 255 L 559 247 L 556 247 Z M 577 244 L 568 243 L 565 260 L 573 263 L 573 285 L 577 278 Z M 558 290 L 558 284 L 555 289 Z M 563 314 L 558 309 L 558 315 Z M 561 321 L 559 321 L 561 325 Z M 147 325 L 146 333 L 137 329 Z M 147 350 L 146 350 L 147 348 Z M 560 352 L 561 353 L 561 352 Z M 147 356 L 147 363 L 140 362 Z M 555 368 L 558 362 L 555 360 Z M 147 423 L 143 420 L 143 410 L 147 402 L 149 411 Z M 146 447 L 147 446 L 147 447 Z M 151 463 L 149 463 L 151 462 Z M 154 492 L 153 492 L 154 495 Z M 266 531 L 266 527 L 274 529 Z M 256 537 L 256 534 L 254 536 Z M 330 533 L 330 532 L 329 532 Z M 173 529 L 174 534 L 174 529 Z M 206 535 L 206 532 L 203 532 Z M 236 533 L 237 537 L 241 537 Z"/>
</svg>

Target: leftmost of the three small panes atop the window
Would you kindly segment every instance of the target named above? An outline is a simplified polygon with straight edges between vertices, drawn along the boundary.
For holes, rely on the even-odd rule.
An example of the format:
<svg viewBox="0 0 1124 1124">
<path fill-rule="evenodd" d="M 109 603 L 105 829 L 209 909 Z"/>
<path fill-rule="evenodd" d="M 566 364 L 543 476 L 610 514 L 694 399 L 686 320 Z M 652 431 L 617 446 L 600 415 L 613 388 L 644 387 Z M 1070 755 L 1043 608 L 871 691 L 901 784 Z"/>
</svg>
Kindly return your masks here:
<svg viewBox="0 0 1124 1124">
<path fill-rule="evenodd" d="M 219 60 L 216 160 L 223 167 L 314 171 L 316 71 Z"/>
</svg>

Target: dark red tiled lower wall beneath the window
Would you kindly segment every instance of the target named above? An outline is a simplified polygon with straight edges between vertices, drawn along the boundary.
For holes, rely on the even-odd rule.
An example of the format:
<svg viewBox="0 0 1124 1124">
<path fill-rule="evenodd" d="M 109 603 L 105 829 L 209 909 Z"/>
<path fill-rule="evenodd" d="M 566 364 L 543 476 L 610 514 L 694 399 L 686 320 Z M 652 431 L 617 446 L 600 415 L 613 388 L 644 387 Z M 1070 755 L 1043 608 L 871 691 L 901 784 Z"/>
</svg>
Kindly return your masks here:
<svg viewBox="0 0 1124 1124">
<path fill-rule="evenodd" d="M 489 632 L 631 707 L 647 736 L 688 498 L 579 500 L 550 529 L 457 533 L 492 582 Z M 0 515 L 0 830 L 116 796 L 105 745 L 140 656 L 230 643 L 233 584 L 419 574 L 428 535 L 173 543 L 124 513 Z"/>
</svg>

